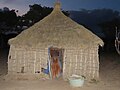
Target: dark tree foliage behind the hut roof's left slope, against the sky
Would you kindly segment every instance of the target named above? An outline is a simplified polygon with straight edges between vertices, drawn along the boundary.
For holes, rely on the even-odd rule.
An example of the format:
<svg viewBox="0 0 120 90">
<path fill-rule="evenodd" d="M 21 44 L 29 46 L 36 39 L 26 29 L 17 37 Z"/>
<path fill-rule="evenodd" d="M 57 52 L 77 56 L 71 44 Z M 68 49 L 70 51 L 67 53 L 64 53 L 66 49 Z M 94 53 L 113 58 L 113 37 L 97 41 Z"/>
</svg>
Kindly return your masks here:
<svg viewBox="0 0 120 90">
<path fill-rule="evenodd" d="M 23 29 L 26 29 L 24 27 L 30 27 L 40 21 L 50 14 L 52 10 L 53 8 L 34 4 L 29 5 L 29 11 L 26 14 L 17 16 L 16 13 L 18 10 L 9 10 L 9 8 L 4 7 L 3 10 L 0 11 L 0 30 L 8 31 L 14 29 L 21 32 Z M 63 11 L 63 13 L 69 16 L 67 11 Z"/>
</svg>

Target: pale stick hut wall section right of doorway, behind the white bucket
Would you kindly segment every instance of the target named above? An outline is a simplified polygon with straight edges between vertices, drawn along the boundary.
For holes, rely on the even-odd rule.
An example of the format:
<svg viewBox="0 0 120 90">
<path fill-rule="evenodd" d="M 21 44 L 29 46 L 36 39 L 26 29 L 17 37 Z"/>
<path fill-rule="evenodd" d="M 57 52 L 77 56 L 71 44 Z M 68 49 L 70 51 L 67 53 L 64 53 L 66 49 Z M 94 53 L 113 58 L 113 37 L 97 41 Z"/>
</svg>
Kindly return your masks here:
<svg viewBox="0 0 120 90">
<path fill-rule="evenodd" d="M 83 75 L 87 79 L 99 78 L 98 47 L 65 50 L 63 78 L 68 79 L 72 74 Z"/>
</svg>

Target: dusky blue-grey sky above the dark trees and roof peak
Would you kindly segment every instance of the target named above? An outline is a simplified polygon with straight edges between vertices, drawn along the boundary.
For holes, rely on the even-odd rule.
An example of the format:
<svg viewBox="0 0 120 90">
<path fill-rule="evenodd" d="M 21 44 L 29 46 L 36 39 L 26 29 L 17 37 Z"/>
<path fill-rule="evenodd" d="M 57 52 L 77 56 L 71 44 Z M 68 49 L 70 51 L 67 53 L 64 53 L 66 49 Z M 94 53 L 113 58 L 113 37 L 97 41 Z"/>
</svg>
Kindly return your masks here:
<svg viewBox="0 0 120 90">
<path fill-rule="evenodd" d="M 19 10 L 18 15 L 23 15 L 29 10 L 29 5 L 41 4 L 53 7 L 57 0 L 0 0 L 0 8 L 8 7 Z M 63 10 L 100 9 L 110 8 L 120 11 L 120 0 L 59 0 Z"/>
</svg>

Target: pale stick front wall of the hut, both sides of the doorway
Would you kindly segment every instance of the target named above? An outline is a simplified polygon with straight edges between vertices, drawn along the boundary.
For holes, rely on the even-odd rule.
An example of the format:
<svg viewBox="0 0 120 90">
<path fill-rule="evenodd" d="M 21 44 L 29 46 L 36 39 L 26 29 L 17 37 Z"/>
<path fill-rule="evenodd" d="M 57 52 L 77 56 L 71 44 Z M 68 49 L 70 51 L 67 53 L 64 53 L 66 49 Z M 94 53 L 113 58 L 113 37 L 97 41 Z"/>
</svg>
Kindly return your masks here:
<svg viewBox="0 0 120 90">
<path fill-rule="evenodd" d="M 40 74 L 47 68 L 48 48 L 24 49 L 10 47 L 8 74 Z M 65 49 L 63 59 L 63 78 L 72 74 L 83 75 L 87 79 L 99 78 L 98 47 L 87 49 Z"/>
</svg>

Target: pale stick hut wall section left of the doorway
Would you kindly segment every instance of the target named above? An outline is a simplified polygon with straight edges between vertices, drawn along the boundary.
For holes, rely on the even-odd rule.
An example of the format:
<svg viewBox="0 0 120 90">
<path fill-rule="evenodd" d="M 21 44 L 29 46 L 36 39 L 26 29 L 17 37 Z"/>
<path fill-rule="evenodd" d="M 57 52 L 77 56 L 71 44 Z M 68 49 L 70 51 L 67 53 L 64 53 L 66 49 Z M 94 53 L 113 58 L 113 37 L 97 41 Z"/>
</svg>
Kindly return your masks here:
<svg viewBox="0 0 120 90">
<path fill-rule="evenodd" d="M 10 47 L 8 56 L 8 74 L 37 74 L 41 68 L 47 68 L 47 49 L 24 49 Z"/>
</svg>

